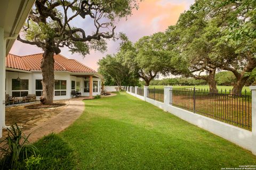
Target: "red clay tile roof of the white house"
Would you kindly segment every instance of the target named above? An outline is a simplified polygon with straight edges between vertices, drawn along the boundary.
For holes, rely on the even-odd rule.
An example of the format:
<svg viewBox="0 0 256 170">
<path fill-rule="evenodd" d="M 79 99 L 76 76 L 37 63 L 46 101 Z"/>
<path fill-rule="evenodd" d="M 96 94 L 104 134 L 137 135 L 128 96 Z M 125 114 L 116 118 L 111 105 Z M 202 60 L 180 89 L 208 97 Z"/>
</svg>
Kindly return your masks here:
<svg viewBox="0 0 256 170">
<path fill-rule="evenodd" d="M 41 70 L 41 61 L 43 54 L 34 54 L 27 56 L 17 56 L 8 54 L 6 57 L 6 67 L 12 69 L 20 69 L 26 71 Z M 54 70 L 55 71 L 69 71 L 69 72 L 95 72 L 90 67 L 84 64 L 68 59 L 60 54 L 54 55 Z"/>
</svg>

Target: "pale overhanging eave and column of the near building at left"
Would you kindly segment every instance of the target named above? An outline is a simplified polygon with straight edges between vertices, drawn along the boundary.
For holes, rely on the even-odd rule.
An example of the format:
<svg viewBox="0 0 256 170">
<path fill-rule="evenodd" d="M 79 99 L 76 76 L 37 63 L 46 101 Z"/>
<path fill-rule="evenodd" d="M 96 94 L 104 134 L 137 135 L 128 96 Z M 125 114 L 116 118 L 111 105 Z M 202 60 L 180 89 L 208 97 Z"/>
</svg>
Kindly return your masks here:
<svg viewBox="0 0 256 170">
<path fill-rule="evenodd" d="M 0 5 L 0 137 L 5 125 L 5 57 L 18 36 L 35 0 L 6 0 Z"/>
</svg>

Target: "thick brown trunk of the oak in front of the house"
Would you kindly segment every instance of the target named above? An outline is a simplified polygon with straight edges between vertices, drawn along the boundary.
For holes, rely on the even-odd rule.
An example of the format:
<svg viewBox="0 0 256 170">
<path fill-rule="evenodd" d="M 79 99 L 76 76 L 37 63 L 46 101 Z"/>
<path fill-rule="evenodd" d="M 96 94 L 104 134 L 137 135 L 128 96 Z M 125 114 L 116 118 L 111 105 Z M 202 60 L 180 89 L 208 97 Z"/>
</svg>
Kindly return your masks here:
<svg viewBox="0 0 256 170">
<path fill-rule="evenodd" d="M 54 92 L 54 52 L 45 50 L 43 54 L 43 60 L 41 62 L 42 69 L 42 85 L 43 95 L 40 98 L 42 104 L 53 104 L 53 92 Z"/>
</svg>

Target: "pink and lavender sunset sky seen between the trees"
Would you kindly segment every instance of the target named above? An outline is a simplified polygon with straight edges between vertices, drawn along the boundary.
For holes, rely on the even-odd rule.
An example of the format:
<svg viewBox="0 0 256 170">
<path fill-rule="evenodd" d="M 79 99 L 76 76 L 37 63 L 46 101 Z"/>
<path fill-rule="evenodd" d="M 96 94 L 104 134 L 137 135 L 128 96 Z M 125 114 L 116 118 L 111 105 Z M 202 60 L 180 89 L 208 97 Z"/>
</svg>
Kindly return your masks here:
<svg viewBox="0 0 256 170">
<path fill-rule="evenodd" d="M 169 25 L 174 25 L 181 13 L 188 10 L 194 0 L 144 0 L 140 2 L 139 9 L 133 10 L 132 15 L 127 20 L 121 20 L 116 24 L 116 32 L 123 32 L 133 42 L 139 40 L 143 36 L 152 35 L 155 32 L 165 31 Z M 74 24 L 86 30 L 86 21 L 74 20 Z M 82 56 L 79 54 L 71 54 L 68 48 L 61 48 L 61 53 L 70 59 L 75 59 L 94 70 L 98 69 L 97 62 L 107 54 L 117 53 L 119 47 L 118 41 L 108 40 L 107 51 L 105 53 L 94 52 L 89 55 Z M 11 54 L 24 56 L 30 54 L 43 53 L 43 51 L 33 45 L 23 44 L 15 41 Z"/>
</svg>

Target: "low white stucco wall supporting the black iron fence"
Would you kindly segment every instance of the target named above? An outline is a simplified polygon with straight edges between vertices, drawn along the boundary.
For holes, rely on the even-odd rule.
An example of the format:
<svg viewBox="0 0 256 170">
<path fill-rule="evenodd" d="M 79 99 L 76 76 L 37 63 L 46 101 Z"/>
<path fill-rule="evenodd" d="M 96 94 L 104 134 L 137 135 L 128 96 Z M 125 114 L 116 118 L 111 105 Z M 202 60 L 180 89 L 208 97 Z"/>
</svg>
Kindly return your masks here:
<svg viewBox="0 0 256 170">
<path fill-rule="evenodd" d="M 126 91 L 126 92 L 127 94 L 135 96 L 129 91 Z M 144 97 L 140 95 L 136 95 L 135 97 L 141 100 L 145 100 L 148 103 L 153 104 L 163 109 L 164 111 L 169 112 L 181 118 L 182 120 L 185 120 L 191 124 L 198 126 L 199 128 L 202 128 L 204 130 L 207 130 L 209 132 L 212 132 L 218 135 L 219 137 L 229 140 L 230 142 L 233 142 L 238 146 L 241 146 L 247 150 L 250 150 L 255 155 L 255 152 L 254 152 L 255 146 L 253 145 L 253 143 L 255 142 L 252 142 L 253 138 L 252 138 L 251 131 L 247 131 L 242 128 L 238 128 L 236 126 L 223 123 L 223 122 L 214 120 L 212 118 L 205 117 L 203 115 L 199 115 L 193 112 L 186 111 L 185 109 L 172 106 L 169 104 L 170 100 L 164 101 L 164 103 L 162 103 L 162 102 L 147 98 L 146 96 L 147 95 L 145 94 Z M 166 98 L 168 98 L 166 96 L 170 96 L 170 94 L 164 94 L 164 96 L 165 96 L 164 99 L 166 100 Z"/>
</svg>

